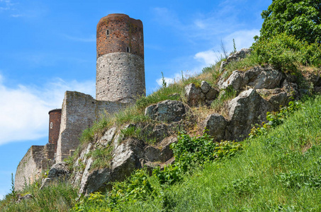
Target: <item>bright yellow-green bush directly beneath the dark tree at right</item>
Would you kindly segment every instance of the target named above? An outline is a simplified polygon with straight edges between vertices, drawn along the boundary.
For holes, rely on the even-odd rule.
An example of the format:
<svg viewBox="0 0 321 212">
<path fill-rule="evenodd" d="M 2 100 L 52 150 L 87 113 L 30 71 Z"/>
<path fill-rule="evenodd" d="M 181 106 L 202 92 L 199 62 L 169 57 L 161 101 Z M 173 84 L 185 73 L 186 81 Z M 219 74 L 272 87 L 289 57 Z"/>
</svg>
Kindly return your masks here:
<svg viewBox="0 0 321 212">
<path fill-rule="evenodd" d="M 271 64 L 283 71 L 296 71 L 298 64 L 321 65 L 320 44 L 308 44 L 286 33 L 261 38 L 252 48 L 259 64 Z"/>
</svg>

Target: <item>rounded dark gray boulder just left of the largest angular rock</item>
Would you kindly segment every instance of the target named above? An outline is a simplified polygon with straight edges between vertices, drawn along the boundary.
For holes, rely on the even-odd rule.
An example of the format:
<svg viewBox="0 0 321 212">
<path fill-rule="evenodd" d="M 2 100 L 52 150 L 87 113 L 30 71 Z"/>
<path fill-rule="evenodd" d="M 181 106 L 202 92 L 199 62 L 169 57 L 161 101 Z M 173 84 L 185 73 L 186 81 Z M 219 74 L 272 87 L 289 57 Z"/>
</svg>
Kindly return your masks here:
<svg viewBox="0 0 321 212">
<path fill-rule="evenodd" d="M 227 120 L 220 114 L 210 114 L 201 124 L 207 129 L 207 134 L 213 136 L 215 141 L 221 141 L 225 137 Z"/>
</svg>

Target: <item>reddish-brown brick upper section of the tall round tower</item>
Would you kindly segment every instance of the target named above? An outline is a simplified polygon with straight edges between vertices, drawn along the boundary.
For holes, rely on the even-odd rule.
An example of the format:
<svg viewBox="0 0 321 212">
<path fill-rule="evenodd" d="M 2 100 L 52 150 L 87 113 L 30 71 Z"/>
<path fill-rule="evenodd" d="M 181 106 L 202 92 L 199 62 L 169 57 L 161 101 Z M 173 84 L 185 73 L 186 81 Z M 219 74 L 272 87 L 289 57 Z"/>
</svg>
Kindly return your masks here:
<svg viewBox="0 0 321 212">
<path fill-rule="evenodd" d="M 109 14 L 97 24 L 97 58 L 114 52 L 129 52 L 144 59 L 142 21 L 128 15 Z"/>
</svg>

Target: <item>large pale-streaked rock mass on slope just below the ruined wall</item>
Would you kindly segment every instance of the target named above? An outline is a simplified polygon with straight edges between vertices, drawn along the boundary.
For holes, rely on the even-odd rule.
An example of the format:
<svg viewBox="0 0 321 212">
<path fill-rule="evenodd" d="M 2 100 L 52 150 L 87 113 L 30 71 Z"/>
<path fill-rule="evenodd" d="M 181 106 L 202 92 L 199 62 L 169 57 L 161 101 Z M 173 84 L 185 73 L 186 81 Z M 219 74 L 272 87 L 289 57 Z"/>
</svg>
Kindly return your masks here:
<svg viewBox="0 0 321 212">
<path fill-rule="evenodd" d="M 142 127 L 135 124 L 128 124 L 128 127 Z M 147 124 L 142 127 L 142 133 L 146 131 L 154 134 L 156 137 L 162 137 L 162 129 L 166 129 L 164 139 L 157 141 L 154 145 L 148 145 L 141 139 L 134 137 L 123 138 L 121 131 L 116 127 L 111 127 L 105 134 L 94 143 L 89 143 L 86 148 L 79 153 L 79 157 L 74 164 L 76 175 L 70 179 L 75 186 L 79 186 L 80 194 L 90 194 L 106 188 L 111 188 L 111 182 L 122 181 L 128 177 L 133 170 L 147 166 L 149 168 L 164 163 L 172 163 L 174 160 L 173 151 L 169 146 L 177 141 L 176 136 L 169 136 L 166 124 Z M 144 131 L 145 130 L 145 131 Z M 154 133 L 153 133 L 154 132 Z M 155 138 L 156 138 L 155 137 Z M 147 137 L 146 137 L 147 138 Z M 158 140 L 158 139 L 156 139 Z M 108 166 L 103 168 L 94 168 L 94 158 L 91 158 L 90 152 L 97 148 L 112 148 L 111 160 Z M 89 158 L 88 158 L 89 157 Z M 79 166 L 83 166 L 84 170 L 79 170 Z"/>
</svg>

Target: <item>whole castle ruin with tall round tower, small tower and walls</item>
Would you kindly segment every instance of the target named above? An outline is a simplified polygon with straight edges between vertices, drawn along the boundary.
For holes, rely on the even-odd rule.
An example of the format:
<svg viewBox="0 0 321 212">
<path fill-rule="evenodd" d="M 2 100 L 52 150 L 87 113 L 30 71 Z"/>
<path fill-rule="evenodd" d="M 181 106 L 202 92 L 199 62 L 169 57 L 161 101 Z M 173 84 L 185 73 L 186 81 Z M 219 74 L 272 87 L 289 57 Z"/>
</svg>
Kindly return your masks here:
<svg viewBox="0 0 321 212">
<path fill-rule="evenodd" d="M 109 14 L 97 25 L 96 100 L 66 91 L 62 109 L 49 112 L 49 142 L 31 146 L 16 170 L 15 187 L 23 189 L 44 170 L 68 158 L 79 146 L 82 131 L 103 113 L 113 114 L 145 95 L 142 21 Z"/>
</svg>

